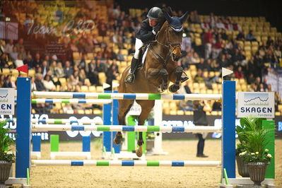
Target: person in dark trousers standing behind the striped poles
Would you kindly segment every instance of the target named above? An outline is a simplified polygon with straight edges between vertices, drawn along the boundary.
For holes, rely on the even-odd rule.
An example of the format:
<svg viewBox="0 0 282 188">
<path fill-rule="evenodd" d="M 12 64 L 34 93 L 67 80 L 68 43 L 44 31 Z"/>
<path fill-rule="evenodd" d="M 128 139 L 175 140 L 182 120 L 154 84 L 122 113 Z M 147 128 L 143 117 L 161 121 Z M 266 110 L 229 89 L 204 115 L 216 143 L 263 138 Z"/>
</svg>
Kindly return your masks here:
<svg viewBox="0 0 282 188">
<path fill-rule="evenodd" d="M 205 100 L 194 100 L 193 102 L 194 114 L 193 122 L 195 126 L 208 126 L 208 119 L 206 118 L 206 112 L 211 112 L 211 107 Z M 204 155 L 204 145 L 207 133 L 196 133 L 198 137 L 198 145 L 196 150 L 196 157 L 207 158 L 208 155 Z"/>
</svg>

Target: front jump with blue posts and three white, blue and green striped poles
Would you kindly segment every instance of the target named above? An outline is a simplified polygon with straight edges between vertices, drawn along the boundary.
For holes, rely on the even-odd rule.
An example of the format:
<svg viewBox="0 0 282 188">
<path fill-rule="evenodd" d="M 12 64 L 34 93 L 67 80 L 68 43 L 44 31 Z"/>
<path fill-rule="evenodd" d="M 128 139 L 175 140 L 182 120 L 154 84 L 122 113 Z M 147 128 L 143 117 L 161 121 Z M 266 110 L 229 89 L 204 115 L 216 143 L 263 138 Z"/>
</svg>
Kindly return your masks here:
<svg viewBox="0 0 282 188">
<path fill-rule="evenodd" d="M 229 181 L 235 180 L 235 81 L 223 81 L 223 95 L 204 94 L 146 94 L 146 93 L 59 93 L 34 92 L 35 98 L 52 96 L 66 99 L 92 100 L 223 100 L 222 129 L 213 127 L 161 127 L 161 126 L 72 126 L 64 124 L 33 125 L 31 122 L 31 85 L 30 78 L 18 78 L 17 95 L 17 138 L 16 138 L 16 178 L 27 178 L 30 165 L 71 165 L 71 166 L 218 166 L 221 165 L 222 177 L 224 169 Z M 46 102 L 46 100 L 45 100 Z M 30 160 L 30 137 L 32 130 L 97 130 L 97 131 L 163 131 L 163 132 L 199 132 L 222 131 L 221 161 L 189 161 L 189 160 Z M 230 181 L 231 182 L 231 181 Z M 235 181 L 233 181 L 235 182 Z M 231 185 L 230 185 L 231 186 Z M 225 185 L 229 187 L 229 185 Z"/>
</svg>

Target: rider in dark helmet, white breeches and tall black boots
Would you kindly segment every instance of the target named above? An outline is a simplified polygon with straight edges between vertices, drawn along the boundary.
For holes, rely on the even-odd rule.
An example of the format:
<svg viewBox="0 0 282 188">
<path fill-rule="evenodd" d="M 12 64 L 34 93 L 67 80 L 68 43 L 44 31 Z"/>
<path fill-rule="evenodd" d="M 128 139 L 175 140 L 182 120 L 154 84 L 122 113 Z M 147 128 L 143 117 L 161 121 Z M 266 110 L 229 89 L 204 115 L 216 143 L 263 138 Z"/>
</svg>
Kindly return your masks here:
<svg viewBox="0 0 282 188">
<path fill-rule="evenodd" d="M 155 39 L 155 35 L 157 35 L 161 27 L 158 23 L 160 23 L 159 18 L 163 16 L 162 14 L 163 12 L 160 8 L 151 8 L 148 11 L 147 18 L 142 22 L 140 30 L 136 32 L 135 54 L 131 60 L 129 75 L 125 79 L 125 83 L 134 83 L 135 71 L 139 63 L 139 48 L 143 46 L 143 43 L 148 43 Z"/>
</svg>

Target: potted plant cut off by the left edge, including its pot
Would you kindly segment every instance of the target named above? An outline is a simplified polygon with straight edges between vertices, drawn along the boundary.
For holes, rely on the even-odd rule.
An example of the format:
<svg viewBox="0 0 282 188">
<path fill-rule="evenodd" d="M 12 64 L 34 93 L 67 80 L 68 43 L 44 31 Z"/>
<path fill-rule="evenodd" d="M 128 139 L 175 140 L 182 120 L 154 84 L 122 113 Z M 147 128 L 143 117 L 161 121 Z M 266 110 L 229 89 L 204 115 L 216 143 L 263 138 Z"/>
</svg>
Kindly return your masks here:
<svg viewBox="0 0 282 188">
<path fill-rule="evenodd" d="M 8 180 L 12 163 L 15 162 L 15 155 L 11 152 L 10 146 L 14 143 L 8 136 L 10 129 L 5 128 L 7 121 L 0 122 L 0 187 L 5 187 Z"/>
</svg>

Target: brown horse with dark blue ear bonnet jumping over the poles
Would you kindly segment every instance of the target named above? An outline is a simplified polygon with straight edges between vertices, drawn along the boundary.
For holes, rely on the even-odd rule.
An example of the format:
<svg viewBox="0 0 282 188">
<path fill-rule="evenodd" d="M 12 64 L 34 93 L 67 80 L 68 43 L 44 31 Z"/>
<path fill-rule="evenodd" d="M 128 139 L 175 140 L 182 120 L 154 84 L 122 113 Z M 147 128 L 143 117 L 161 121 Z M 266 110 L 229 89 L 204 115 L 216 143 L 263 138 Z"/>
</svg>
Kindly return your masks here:
<svg viewBox="0 0 282 188">
<path fill-rule="evenodd" d="M 124 79 L 129 74 L 130 66 L 128 66 L 119 80 L 119 93 L 163 93 L 168 89 L 170 81 L 173 83 L 169 87 L 170 92 L 175 93 L 180 88 L 183 69 L 177 66 L 177 59 L 181 56 L 182 24 L 187 16 L 186 12 L 181 18 L 171 17 L 168 12 L 164 11 L 163 26 L 155 40 L 150 43 L 143 66 L 136 70 L 134 84 L 124 83 Z M 155 100 L 136 100 L 136 102 L 141 106 L 138 124 L 143 125 L 155 105 Z M 126 124 L 125 116 L 133 103 L 134 100 L 119 100 L 119 124 Z M 118 131 L 114 136 L 114 144 L 118 145 L 121 141 L 122 132 Z M 142 132 L 139 132 L 137 144 L 139 147 L 136 149 L 136 155 L 141 157 L 143 154 Z"/>
</svg>

